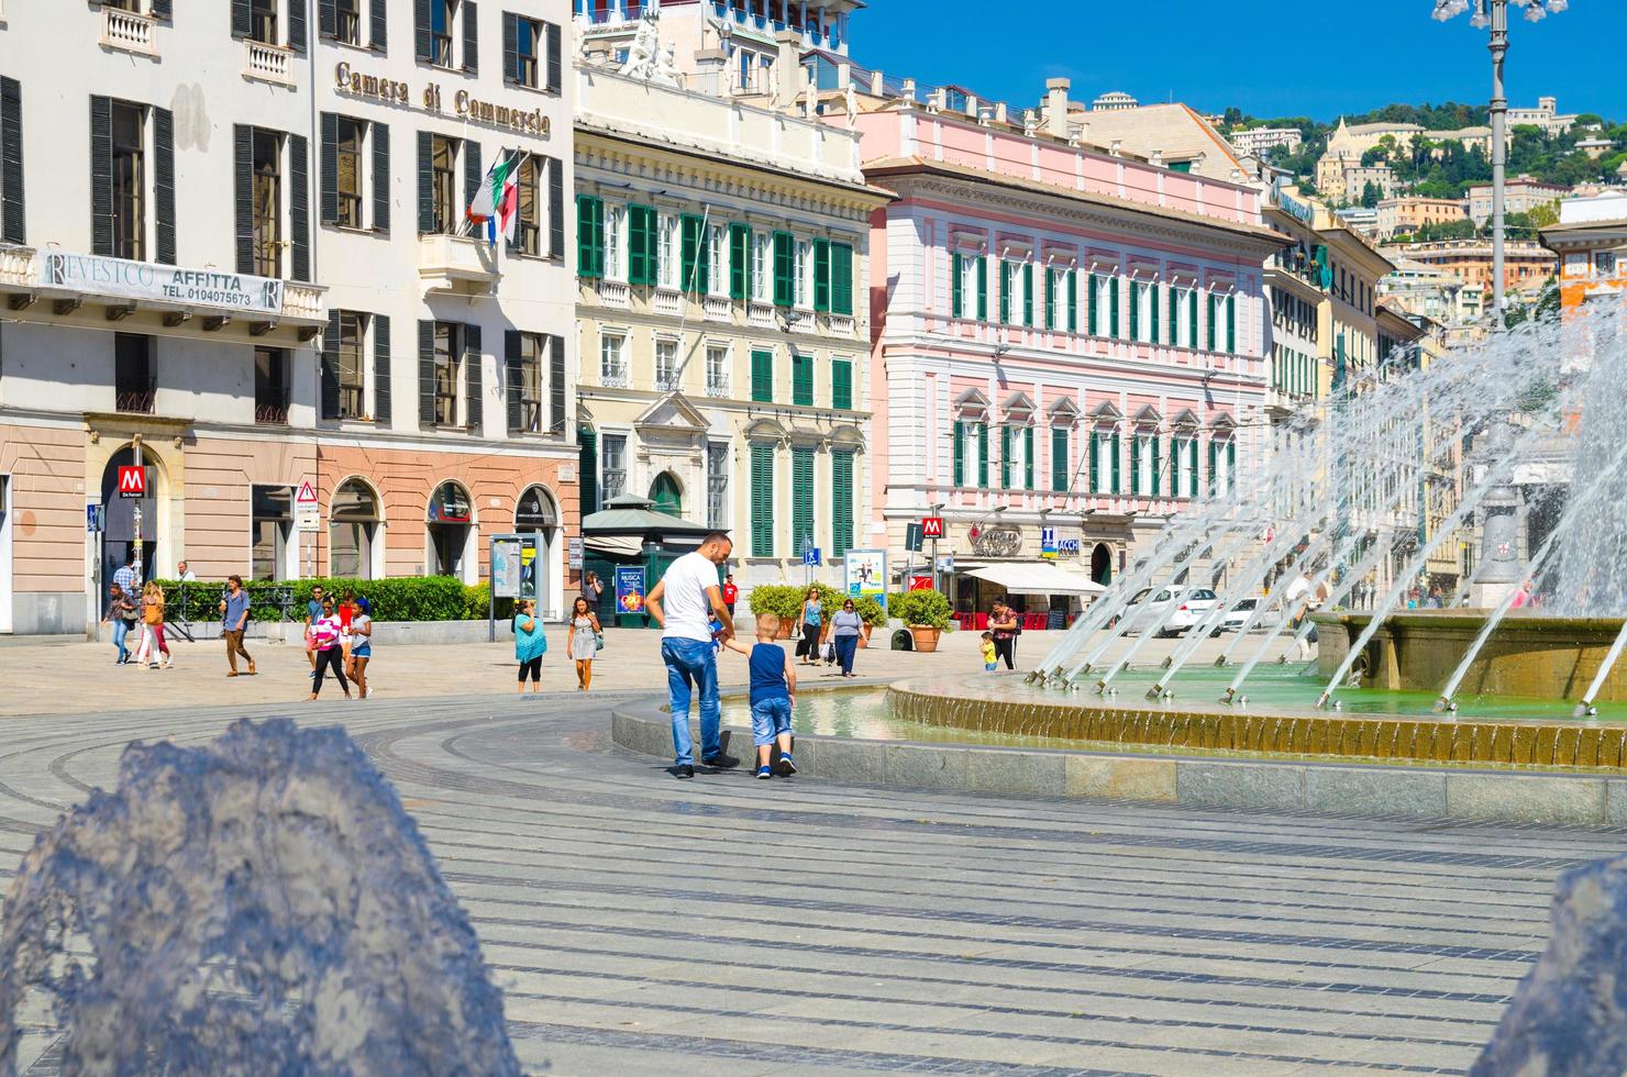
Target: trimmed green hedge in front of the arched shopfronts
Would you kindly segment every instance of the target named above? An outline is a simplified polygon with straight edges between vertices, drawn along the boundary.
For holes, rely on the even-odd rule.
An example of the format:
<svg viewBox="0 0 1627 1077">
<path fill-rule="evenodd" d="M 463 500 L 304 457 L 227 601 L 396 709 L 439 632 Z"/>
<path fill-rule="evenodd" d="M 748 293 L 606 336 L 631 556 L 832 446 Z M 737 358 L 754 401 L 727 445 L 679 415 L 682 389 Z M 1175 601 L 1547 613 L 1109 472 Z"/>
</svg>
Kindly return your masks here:
<svg viewBox="0 0 1627 1077">
<path fill-rule="evenodd" d="M 172 579 L 161 579 L 164 602 L 169 605 L 169 617 L 181 615 L 181 584 Z M 335 599 L 345 591 L 366 595 L 373 607 L 376 621 L 483 621 L 486 618 L 486 602 L 490 602 L 490 586 L 465 586 L 451 576 L 397 576 L 392 579 L 288 579 L 244 582 L 249 592 L 249 617 L 257 621 L 275 621 L 280 618 L 278 607 L 272 602 L 272 594 L 281 589 L 293 591 L 293 602 L 288 607 L 288 618 L 304 620 L 304 605 L 311 600 L 311 589 L 322 587 Z M 213 621 L 220 618 L 220 600 L 226 591 L 225 582 L 197 581 L 185 586 L 185 613 L 194 621 Z M 498 620 L 514 615 L 514 604 L 509 599 L 498 602 Z"/>
</svg>

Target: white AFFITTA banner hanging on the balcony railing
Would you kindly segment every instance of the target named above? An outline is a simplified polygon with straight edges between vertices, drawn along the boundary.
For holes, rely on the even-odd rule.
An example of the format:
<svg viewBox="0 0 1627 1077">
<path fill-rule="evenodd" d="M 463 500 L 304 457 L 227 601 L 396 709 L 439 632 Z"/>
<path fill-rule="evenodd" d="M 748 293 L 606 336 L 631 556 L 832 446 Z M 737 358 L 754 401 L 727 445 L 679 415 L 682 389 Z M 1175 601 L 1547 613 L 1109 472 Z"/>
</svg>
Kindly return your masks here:
<svg viewBox="0 0 1627 1077">
<path fill-rule="evenodd" d="M 46 252 L 41 288 L 65 288 L 93 296 L 148 299 L 176 306 L 215 307 L 242 314 L 281 314 L 283 281 L 246 273 L 177 268 L 127 262 L 94 254 Z"/>
</svg>

